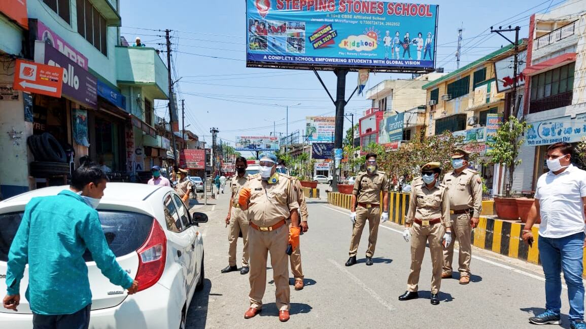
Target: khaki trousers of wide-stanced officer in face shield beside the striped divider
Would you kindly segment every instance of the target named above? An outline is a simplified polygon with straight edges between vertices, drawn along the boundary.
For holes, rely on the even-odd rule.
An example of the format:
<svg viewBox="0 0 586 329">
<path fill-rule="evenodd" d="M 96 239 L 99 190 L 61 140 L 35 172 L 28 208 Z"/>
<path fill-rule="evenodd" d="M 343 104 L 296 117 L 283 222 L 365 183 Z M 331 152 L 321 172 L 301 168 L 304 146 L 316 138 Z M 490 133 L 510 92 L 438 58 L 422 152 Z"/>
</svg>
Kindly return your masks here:
<svg viewBox="0 0 586 329">
<path fill-rule="evenodd" d="M 364 208 L 360 205 L 356 207 L 356 222 L 352 229 L 352 238 L 350 238 L 350 257 L 355 257 L 358 251 L 358 244 L 360 244 L 360 237 L 366 221 L 368 220 L 369 237 L 368 248 L 366 249 L 366 256 L 372 257 L 374 255 L 374 248 L 376 248 L 376 238 L 379 235 L 380 224 L 380 207 Z"/>
</svg>

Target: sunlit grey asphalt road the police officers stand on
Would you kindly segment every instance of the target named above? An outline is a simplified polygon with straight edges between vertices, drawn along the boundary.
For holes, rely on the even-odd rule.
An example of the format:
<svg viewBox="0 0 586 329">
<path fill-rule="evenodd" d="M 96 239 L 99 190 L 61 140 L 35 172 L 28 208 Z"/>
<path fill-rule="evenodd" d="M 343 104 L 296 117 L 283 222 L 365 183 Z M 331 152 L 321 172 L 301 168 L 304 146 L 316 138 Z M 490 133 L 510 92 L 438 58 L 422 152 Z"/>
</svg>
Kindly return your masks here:
<svg viewBox="0 0 586 329">
<path fill-rule="evenodd" d="M 325 199 L 325 191 L 324 196 Z M 301 237 L 305 289 L 291 286 L 291 320 L 278 321 L 272 271 L 268 269 L 263 312 L 244 319 L 248 309 L 248 276 L 220 273 L 228 265 L 227 214 L 229 194 L 220 194 L 195 211 L 209 215 L 202 225 L 205 244 L 205 288 L 196 293 L 188 313 L 188 328 L 534 328 L 527 318 L 545 305 L 543 272 L 539 266 L 474 249 L 472 282 L 462 286 L 444 279 L 441 303 L 430 304 L 431 261 L 426 252 L 421 270 L 420 299 L 398 301 L 407 287 L 410 245 L 402 229 L 385 223 L 379 229 L 374 265 L 364 264 L 367 230 L 359 247 L 359 263 L 347 260 L 351 223 L 349 212 L 325 200 L 308 199 L 309 232 Z M 456 245 L 457 247 L 457 245 Z M 239 242 L 240 259 L 242 244 Z M 239 264 L 240 266 L 240 264 Z M 457 265 L 456 265 L 457 266 Z M 267 268 L 270 268 L 270 261 Z M 291 278 L 291 285 L 293 280 Z M 567 320 L 567 290 L 563 291 L 563 328 Z"/>
</svg>

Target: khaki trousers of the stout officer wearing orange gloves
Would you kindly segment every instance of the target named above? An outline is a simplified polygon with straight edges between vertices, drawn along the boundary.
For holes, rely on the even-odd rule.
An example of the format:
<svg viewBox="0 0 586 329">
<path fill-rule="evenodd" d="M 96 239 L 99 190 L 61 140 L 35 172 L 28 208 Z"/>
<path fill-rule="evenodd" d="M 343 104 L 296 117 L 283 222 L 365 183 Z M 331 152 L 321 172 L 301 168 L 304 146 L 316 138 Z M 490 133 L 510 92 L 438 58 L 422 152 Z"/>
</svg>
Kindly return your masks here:
<svg viewBox="0 0 586 329">
<path fill-rule="evenodd" d="M 248 252 L 250 253 L 250 307 L 263 308 L 264 290 L 267 287 L 267 255 L 271 253 L 272 278 L 275 282 L 277 309 L 289 310 L 289 267 L 287 266 L 287 245 L 289 227 L 282 225 L 275 231 L 261 232 L 248 230 Z"/>
</svg>

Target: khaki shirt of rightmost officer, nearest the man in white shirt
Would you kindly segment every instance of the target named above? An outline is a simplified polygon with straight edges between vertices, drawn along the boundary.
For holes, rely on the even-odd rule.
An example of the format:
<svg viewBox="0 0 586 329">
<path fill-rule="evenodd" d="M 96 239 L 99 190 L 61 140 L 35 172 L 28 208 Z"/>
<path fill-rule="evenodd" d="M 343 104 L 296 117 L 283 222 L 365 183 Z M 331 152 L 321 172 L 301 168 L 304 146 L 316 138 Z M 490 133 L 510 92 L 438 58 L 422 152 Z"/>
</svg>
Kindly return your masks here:
<svg viewBox="0 0 586 329">
<path fill-rule="evenodd" d="M 451 210 L 473 209 L 472 217 L 482 213 L 482 179 L 478 172 L 464 169 L 460 174 L 445 174 L 443 184 L 448 187 L 449 208 Z"/>
</svg>

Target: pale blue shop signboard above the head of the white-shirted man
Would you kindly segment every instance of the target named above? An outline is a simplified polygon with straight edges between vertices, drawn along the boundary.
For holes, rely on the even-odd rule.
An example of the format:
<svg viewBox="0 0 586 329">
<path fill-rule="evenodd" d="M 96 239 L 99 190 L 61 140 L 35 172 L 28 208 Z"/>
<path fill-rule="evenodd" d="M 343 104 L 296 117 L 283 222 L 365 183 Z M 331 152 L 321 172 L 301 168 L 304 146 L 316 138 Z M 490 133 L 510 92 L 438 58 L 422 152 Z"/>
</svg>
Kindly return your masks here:
<svg viewBox="0 0 586 329">
<path fill-rule="evenodd" d="M 525 134 L 525 146 L 550 145 L 557 142 L 580 142 L 586 136 L 586 114 L 530 122 Z"/>
</svg>

